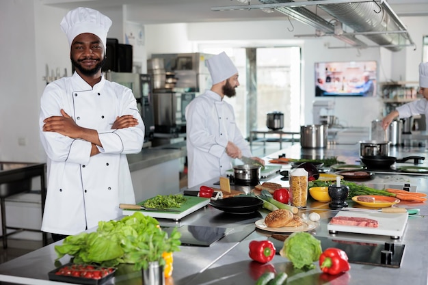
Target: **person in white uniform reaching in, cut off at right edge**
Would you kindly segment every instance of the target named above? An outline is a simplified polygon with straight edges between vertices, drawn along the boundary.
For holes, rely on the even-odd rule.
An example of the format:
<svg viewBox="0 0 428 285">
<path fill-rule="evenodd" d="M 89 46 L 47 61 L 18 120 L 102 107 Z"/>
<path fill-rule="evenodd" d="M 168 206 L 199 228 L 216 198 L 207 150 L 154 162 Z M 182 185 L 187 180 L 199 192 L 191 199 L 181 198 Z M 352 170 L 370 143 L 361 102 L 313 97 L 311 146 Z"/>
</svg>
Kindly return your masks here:
<svg viewBox="0 0 428 285">
<path fill-rule="evenodd" d="M 386 130 L 391 122 L 399 118 L 409 118 L 411 116 L 425 114 L 426 124 L 428 126 L 428 62 L 419 64 L 419 94 L 423 96 L 420 100 L 414 100 L 397 107 L 391 111 L 383 120 L 382 126 Z"/>
</svg>

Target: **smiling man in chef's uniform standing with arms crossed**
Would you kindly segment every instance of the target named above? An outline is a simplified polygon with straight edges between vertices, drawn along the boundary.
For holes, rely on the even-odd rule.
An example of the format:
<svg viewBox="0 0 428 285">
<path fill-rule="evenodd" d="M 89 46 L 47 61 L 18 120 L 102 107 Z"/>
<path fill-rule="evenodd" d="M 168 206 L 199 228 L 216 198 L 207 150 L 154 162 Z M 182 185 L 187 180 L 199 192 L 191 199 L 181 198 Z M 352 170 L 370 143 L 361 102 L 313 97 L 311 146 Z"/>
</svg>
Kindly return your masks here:
<svg viewBox="0 0 428 285">
<path fill-rule="evenodd" d="M 48 189 L 42 231 L 54 241 L 122 215 L 135 204 L 126 154 L 142 150 L 144 123 L 132 91 L 105 80 L 105 42 L 111 20 L 77 8 L 61 28 L 76 72 L 46 86 L 41 98 L 40 137 Z"/>
</svg>

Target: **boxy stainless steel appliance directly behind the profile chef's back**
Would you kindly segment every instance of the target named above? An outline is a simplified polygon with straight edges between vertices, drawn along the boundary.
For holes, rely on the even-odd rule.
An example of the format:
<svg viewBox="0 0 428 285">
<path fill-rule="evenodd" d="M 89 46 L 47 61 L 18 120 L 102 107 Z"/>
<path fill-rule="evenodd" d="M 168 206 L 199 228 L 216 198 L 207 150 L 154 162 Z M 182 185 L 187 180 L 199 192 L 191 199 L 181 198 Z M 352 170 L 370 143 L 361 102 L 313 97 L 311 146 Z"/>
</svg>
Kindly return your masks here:
<svg viewBox="0 0 428 285">
<path fill-rule="evenodd" d="M 193 92 L 154 93 L 155 133 L 186 133 L 185 109 L 193 98 Z"/>
</svg>

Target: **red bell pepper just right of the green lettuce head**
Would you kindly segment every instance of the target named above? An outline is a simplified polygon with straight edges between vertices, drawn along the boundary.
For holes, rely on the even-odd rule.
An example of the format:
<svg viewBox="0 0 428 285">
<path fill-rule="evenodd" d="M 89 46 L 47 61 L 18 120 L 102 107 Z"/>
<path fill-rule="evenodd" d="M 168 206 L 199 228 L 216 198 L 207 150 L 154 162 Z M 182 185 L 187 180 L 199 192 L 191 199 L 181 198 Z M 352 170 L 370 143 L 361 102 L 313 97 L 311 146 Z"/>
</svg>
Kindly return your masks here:
<svg viewBox="0 0 428 285">
<path fill-rule="evenodd" d="M 351 269 L 348 256 L 342 249 L 330 247 L 319 256 L 319 268 L 323 273 L 336 275 Z"/>
</svg>

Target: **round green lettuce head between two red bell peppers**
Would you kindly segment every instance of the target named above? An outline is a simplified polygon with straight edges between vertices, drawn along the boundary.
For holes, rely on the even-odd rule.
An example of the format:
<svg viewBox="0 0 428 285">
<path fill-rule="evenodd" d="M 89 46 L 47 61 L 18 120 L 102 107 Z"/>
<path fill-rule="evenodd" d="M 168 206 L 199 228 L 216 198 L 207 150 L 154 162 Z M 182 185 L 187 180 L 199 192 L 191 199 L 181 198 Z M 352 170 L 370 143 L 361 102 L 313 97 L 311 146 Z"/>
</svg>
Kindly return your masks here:
<svg viewBox="0 0 428 285">
<path fill-rule="evenodd" d="M 315 268 L 314 262 L 319 260 L 322 252 L 321 241 L 315 239 L 312 234 L 293 232 L 284 241 L 280 256 L 288 258 L 297 269 L 304 267 L 312 269 Z"/>
</svg>

